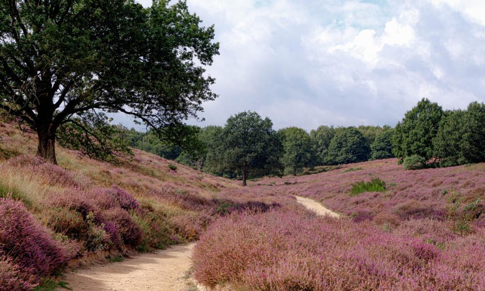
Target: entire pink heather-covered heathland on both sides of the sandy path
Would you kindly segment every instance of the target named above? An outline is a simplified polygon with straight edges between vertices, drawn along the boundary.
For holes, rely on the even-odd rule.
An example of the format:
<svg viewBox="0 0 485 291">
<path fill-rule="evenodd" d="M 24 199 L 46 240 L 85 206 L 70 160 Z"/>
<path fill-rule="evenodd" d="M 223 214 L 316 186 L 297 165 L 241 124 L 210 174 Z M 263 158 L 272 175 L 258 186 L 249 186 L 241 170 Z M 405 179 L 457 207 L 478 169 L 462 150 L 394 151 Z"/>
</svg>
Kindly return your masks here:
<svg viewBox="0 0 485 291">
<path fill-rule="evenodd" d="M 208 287 L 485 286 L 484 163 L 405 171 L 378 160 L 242 188 L 140 150 L 106 163 L 58 148 L 52 165 L 33 156 L 34 134 L 3 124 L 0 136 L 0 290 L 31 290 L 101 250 L 190 241 L 193 276 Z M 319 217 L 294 195 L 340 218 Z"/>
</svg>

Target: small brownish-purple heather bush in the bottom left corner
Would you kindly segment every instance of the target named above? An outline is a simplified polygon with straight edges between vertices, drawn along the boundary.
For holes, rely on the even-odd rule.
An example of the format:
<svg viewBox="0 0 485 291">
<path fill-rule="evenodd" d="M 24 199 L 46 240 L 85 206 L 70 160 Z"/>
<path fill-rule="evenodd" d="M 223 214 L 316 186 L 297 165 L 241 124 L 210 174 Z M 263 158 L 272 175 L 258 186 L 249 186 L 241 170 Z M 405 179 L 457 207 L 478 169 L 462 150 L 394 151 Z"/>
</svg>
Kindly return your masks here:
<svg viewBox="0 0 485 291">
<path fill-rule="evenodd" d="M 32 270 L 22 269 L 11 258 L 0 256 L 0 291 L 29 291 L 37 284 Z"/>
</svg>

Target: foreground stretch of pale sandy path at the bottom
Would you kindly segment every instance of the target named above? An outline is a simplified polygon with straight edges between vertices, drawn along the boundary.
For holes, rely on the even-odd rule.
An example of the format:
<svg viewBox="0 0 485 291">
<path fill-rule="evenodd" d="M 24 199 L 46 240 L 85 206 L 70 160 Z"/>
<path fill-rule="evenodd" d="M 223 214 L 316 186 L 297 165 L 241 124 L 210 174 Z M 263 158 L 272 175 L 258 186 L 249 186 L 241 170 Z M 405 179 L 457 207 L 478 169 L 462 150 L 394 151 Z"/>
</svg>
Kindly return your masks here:
<svg viewBox="0 0 485 291">
<path fill-rule="evenodd" d="M 68 273 L 64 281 L 74 291 L 187 290 L 182 277 L 192 266 L 190 257 L 194 245 L 177 245 L 123 262 L 81 269 Z"/>
</svg>

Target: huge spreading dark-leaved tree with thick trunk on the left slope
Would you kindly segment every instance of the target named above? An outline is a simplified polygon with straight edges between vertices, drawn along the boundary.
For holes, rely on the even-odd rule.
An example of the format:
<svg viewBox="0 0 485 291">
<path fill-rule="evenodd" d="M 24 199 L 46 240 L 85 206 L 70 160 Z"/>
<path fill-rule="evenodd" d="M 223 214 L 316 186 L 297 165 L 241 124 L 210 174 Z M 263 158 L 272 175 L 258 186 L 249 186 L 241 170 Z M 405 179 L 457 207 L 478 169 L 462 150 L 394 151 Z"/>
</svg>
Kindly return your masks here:
<svg viewBox="0 0 485 291">
<path fill-rule="evenodd" d="M 105 113 L 177 139 L 216 97 L 204 74 L 214 29 L 184 1 L 2 0 L 0 35 L 0 109 L 37 132 L 49 162 L 56 138 L 90 155 L 116 151 Z"/>
</svg>

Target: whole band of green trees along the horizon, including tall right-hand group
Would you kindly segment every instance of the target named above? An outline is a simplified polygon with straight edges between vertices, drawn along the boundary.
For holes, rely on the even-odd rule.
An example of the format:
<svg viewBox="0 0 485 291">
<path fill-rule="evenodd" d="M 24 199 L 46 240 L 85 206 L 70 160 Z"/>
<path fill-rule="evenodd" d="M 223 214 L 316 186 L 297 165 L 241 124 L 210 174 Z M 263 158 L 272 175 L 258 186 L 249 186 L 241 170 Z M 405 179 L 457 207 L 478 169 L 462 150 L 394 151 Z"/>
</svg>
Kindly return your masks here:
<svg viewBox="0 0 485 291">
<path fill-rule="evenodd" d="M 188 127 L 193 137 L 176 145 L 153 130 L 125 129 L 130 145 L 194 169 L 227 178 L 299 175 L 305 168 L 399 158 L 406 169 L 485 162 L 485 105 L 443 111 L 422 99 L 395 128 L 320 126 L 309 133 L 273 129 L 256 112 L 242 112 L 226 125 Z"/>
</svg>

